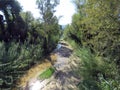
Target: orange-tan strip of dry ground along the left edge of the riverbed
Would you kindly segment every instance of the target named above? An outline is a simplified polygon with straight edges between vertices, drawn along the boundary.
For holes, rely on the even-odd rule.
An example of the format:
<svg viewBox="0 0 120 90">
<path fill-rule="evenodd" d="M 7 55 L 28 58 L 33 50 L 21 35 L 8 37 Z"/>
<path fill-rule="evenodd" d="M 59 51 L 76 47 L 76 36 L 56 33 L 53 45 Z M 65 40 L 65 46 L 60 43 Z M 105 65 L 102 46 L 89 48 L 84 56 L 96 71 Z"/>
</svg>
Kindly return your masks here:
<svg viewBox="0 0 120 90">
<path fill-rule="evenodd" d="M 18 82 L 18 86 L 20 87 L 26 86 L 27 82 L 29 82 L 33 78 L 37 78 L 41 72 L 51 67 L 52 66 L 51 62 L 55 62 L 57 60 L 57 55 L 51 54 L 49 59 L 50 60 L 48 60 L 47 58 L 43 60 L 44 61 L 43 63 L 40 63 L 39 65 L 35 65 L 31 69 L 29 69 L 27 73 L 20 78 Z"/>
</svg>

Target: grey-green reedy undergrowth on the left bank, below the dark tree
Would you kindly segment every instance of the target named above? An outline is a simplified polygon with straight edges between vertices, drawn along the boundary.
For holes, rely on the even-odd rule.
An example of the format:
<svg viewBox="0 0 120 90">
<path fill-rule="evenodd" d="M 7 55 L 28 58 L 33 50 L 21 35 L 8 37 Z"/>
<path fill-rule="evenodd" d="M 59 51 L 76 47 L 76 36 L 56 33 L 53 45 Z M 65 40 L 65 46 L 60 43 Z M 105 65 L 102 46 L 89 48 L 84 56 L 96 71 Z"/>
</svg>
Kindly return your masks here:
<svg viewBox="0 0 120 90">
<path fill-rule="evenodd" d="M 1 42 L 0 50 L 0 85 L 4 88 L 14 86 L 14 82 L 42 56 L 40 44 Z"/>
</svg>

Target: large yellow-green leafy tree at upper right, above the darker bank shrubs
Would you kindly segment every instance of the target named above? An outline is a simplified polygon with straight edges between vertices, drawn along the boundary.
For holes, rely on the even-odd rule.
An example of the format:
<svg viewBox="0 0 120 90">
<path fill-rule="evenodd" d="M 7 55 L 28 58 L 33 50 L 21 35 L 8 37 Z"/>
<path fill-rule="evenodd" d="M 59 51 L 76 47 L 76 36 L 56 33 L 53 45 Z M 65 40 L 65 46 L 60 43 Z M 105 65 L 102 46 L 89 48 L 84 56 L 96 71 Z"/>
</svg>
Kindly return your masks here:
<svg viewBox="0 0 120 90">
<path fill-rule="evenodd" d="M 75 35 L 83 45 L 99 52 L 99 55 L 113 57 L 112 52 L 116 51 L 115 47 L 119 47 L 120 41 L 119 2 L 75 0 L 75 3 L 78 14 L 73 16 L 72 27 L 79 32 L 79 35 Z"/>
</svg>

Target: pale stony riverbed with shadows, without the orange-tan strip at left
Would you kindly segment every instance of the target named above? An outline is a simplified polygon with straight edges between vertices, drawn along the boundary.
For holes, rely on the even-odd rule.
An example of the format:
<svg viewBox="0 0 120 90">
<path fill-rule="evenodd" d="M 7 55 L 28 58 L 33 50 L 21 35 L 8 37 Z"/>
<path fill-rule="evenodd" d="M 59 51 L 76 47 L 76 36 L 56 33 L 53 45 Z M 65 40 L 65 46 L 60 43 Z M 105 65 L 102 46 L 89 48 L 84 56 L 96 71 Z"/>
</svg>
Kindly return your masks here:
<svg viewBox="0 0 120 90">
<path fill-rule="evenodd" d="M 54 52 L 57 54 L 57 61 L 53 65 L 56 70 L 52 77 L 43 81 L 31 80 L 24 90 L 78 90 L 76 85 L 80 79 L 73 70 L 78 62 L 72 56 L 72 49 L 67 43 L 60 45 Z"/>
</svg>

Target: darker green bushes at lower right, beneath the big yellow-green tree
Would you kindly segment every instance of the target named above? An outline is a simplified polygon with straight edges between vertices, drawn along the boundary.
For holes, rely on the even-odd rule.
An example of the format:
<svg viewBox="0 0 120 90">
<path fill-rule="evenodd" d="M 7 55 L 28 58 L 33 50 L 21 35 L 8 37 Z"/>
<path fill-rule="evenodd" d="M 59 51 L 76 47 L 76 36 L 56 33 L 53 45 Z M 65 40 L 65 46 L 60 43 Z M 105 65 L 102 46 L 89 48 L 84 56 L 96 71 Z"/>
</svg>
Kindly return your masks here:
<svg viewBox="0 0 120 90">
<path fill-rule="evenodd" d="M 107 62 L 105 58 L 92 54 L 87 48 L 75 50 L 81 61 L 77 70 L 82 76 L 78 84 L 80 90 L 119 90 L 119 73 L 114 62 Z"/>
</svg>

